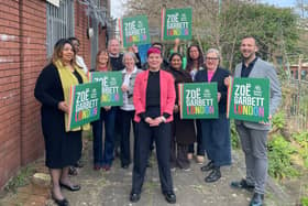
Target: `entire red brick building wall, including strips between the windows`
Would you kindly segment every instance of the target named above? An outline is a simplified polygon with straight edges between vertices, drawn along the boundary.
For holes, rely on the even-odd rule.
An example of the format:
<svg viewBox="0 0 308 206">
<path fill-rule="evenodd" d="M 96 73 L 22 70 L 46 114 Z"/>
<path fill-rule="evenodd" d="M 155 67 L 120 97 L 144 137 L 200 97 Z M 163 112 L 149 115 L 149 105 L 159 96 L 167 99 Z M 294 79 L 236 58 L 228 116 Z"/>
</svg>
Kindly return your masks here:
<svg viewBox="0 0 308 206">
<path fill-rule="evenodd" d="M 80 55 L 90 66 L 91 47 L 85 7 L 75 1 L 75 34 Z M 105 46 L 105 31 L 99 47 Z M 0 188 L 18 170 L 42 156 L 40 104 L 33 96 L 46 59 L 46 2 L 6 0 L 0 3 Z"/>
</svg>

